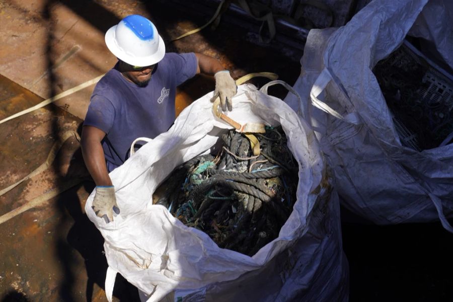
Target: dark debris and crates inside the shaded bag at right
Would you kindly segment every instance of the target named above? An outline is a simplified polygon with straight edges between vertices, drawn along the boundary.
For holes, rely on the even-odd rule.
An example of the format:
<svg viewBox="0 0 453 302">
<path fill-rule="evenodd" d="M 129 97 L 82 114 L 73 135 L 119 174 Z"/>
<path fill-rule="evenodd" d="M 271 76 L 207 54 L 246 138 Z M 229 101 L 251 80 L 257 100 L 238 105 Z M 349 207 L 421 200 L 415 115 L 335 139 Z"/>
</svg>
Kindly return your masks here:
<svg viewBox="0 0 453 302">
<path fill-rule="evenodd" d="M 373 73 L 403 145 L 438 147 L 453 132 L 453 81 L 403 44 Z"/>
</svg>

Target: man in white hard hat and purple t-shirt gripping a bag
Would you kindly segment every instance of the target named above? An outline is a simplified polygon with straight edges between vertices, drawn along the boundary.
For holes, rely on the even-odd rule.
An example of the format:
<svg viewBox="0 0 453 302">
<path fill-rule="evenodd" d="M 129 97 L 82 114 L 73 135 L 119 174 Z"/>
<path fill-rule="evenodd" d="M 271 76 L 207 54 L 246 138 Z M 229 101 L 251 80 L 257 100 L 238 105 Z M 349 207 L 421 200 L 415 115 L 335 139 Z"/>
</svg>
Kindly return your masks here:
<svg viewBox="0 0 453 302">
<path fill-rule="evenodd" d="M 232 110 L 237 87 L 220 62 L 200 53 L 165 53 L 152 22 L 131 15 L 105 35 L 118 63 L 96 85 L 82 130 L 85 164 L 96 183 L 93 210 L 107 222 L 119 213 L 108 175 L 129 157 L 137 137 L 154 138 L 175 120 L 176 87 L 197 73 L 214 74 L 214 97 Z"/>
</svg>

